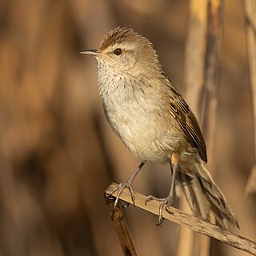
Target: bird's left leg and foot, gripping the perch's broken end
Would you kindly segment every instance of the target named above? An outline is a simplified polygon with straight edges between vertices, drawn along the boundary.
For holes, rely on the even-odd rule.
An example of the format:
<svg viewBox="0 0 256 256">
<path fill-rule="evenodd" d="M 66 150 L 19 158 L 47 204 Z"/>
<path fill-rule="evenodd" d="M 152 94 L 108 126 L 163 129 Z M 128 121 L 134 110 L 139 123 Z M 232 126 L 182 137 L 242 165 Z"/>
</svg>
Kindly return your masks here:
<svg viewBox="0 0 256 256">
<path fill-rule="evenodd" d="M 118 206 L 118 200 L 120 198 L 120 195 L 122 194 L 122 190 L 124 188 L 129 189 L 130 191 L 130 197 L 131 200 L 135 206 L 135 196 L 134 196 L 134 189 L 133 189 L 133 185 L 132 182 L 134 181 L 134 178 L 137 176 L 137 174 L 139 173 L 139 171 L 142 169 L 142 167 L 145 165 L 145 162 L 141 162 L 140 165 L 137 167 L 137 169 L 134 171 L 133 174 L 131 174 L 130 178 L 128 178 L 128 180 L 124 183 L 120 183 L 118 186 L 116 186 L 113 190 L 110 191 L 110 194 L 108 195 L 108 198 L 114 194 L 115 191 L 118 191 L 117 197 L 114 200 L 114 210 L 117 208 Z"/>
</svg>

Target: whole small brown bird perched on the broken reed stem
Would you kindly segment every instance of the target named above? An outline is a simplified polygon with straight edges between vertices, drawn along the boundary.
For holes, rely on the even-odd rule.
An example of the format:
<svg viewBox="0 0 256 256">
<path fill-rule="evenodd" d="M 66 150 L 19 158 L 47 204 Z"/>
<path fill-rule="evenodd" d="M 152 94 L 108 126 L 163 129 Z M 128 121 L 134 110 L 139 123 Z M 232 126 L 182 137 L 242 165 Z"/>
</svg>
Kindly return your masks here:
<svg viewBox="0 0 256 256">
<path fill-rule="evenodd" d="M 107 121 L 141 163 L 130 178 L 120 183 L 114 206 L 126 187 L 135 201 L 132 182 L 146 162 L 170 164 L 172 180 L 166 198 L 158 200 L 158 223 L 162 210 L 174 201 L 181 186 L 194 214 L 227 228 L 238 226 L 222 191 L 206 168 L 206 144 L 197 119 L 181 94 L 162 71 L 158 55 L 147 38 L 132 29 L 118 27 L 106 33 L 97 49 L 84 50 L 98 63 L 98 86 Z M 145 203 L 146 203 L 145 202 Z"/>
</svg>

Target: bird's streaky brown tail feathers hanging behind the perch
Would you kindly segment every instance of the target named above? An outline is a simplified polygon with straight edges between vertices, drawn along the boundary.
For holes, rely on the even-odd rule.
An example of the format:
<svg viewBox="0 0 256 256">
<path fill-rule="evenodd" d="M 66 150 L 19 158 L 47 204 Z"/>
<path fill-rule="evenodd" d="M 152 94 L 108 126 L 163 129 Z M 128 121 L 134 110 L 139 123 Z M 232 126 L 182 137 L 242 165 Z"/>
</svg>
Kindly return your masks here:
<svg viewBox="0 0 256 256">
<path fill-rule="evenodd" d="M 239 228 L 237 218 L 226 202 L 224 194 L 211 178 L 205 162 L 199 159 L 191 175 L 179 172 L 178 181 L 196 216 L 215 222 L 226 229 L 227 222 Z"/>
</svg>

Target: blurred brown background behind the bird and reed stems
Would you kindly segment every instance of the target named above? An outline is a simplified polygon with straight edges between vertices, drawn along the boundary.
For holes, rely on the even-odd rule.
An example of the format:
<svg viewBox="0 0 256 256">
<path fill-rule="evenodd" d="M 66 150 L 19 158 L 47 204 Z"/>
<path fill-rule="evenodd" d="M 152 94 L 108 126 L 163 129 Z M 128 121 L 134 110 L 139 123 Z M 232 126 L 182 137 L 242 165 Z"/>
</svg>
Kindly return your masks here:
<svg viewBox="0 0 256 256">
<path fill-rule="evenodd" d="M 103 192 L 138 160 L 110 130 L 96 62 L 79 55 L 115 26 L 149 38 L 184 93 L 189 1 L 11 0 L 0 2 L 0 255 L 122 255 Z M 214 179 L 238 217 L 234 232 L 256 240 L 254 164 L 242 1 L 226 0 L 220 55 Z M 189 101 L 189 98 L 187 98 Z M 207 144 L 207 142 L 206 142 Z M 147 164 L 134 182 L 164 197 L 167 166 Z M 139 255 L 174 255 L 179 226 L 126 210 Z M 186 242 L 185 242 L 186 244 Z M 246 255 L 220 242 L 212 254 Z"/>
</svg>

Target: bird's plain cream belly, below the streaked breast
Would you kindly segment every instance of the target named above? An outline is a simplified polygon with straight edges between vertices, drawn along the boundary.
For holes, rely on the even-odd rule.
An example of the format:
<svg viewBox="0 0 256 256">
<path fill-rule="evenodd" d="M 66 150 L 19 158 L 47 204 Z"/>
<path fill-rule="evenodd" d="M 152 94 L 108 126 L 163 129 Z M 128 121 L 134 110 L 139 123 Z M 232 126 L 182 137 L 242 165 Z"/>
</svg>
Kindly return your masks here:
<svg viewBox="0 0 256 256">
<path fill-rule="evenodd" d="M 179 150 L 181 131 L 174 119 L 166 120 L 154 108 L 142 110 L 136 101 L 110 106 L 105 105 L 110 126 L 140 160 L 164 163 Z"/>
</svg>

